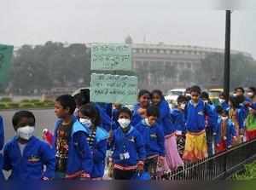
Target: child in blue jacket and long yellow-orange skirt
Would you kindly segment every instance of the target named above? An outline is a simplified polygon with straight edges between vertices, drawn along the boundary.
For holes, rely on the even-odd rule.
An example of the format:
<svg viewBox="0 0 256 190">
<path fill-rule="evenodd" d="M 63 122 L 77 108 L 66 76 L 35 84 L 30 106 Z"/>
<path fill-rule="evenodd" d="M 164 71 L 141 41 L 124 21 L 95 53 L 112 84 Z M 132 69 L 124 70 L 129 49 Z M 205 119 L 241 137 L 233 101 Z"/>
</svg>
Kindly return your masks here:
<svg viewBox="0 0 256 190">
<path fill-rule="evenodd" d="M 191 101 L 185 109 L 186 142 L 183 159 L 196 162 L 207 158 L 206 116 L 213 118 L 212 109 L 200 99 L 199 86 L 191 87 Z"/>
</svg>

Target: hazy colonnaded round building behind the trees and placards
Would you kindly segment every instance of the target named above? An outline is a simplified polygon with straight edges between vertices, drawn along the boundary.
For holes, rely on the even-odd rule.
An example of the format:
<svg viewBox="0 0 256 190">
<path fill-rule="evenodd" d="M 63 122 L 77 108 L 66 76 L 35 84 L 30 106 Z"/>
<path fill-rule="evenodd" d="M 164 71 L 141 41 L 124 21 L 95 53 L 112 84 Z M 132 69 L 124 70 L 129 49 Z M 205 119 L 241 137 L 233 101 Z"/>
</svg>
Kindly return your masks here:
<svg viewBox="0 0 256 190">
<path fill-rule="evenodd" d="M 164 91 L 193 85 L 195 70 L 201 67 L 201 60 L 212 53 L 224 53 L 224 49 L 165 43 L 132 43 L 131 47 L 134 70 L 146 71 L 139 76 L 139 86 Z M 240 51 L 232 50 L 231 54 L 252 58 L 252 55 Z M 147 72 L 148 68 L 154 72 Z"/>
</svg>

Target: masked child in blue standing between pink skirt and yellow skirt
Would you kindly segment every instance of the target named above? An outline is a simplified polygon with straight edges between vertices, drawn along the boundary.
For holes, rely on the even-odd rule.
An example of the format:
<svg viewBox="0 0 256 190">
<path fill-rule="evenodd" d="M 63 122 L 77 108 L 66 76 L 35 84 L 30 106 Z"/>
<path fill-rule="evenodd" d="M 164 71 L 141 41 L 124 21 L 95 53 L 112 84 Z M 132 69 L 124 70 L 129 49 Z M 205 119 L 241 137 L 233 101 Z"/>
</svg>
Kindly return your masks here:
<svg viewBox="0 0 256 190">
<path fill-rule="evenodd" d="M 171 111 L 172 121 L 175 126 L 177 135 L 177 152 L 182 157 L 185 146 L 186 126 L 184 118 L 184 110 L 187 105 L 187 97 L 179 95 L 177 97 L 177 108 Z"/>
</svg>

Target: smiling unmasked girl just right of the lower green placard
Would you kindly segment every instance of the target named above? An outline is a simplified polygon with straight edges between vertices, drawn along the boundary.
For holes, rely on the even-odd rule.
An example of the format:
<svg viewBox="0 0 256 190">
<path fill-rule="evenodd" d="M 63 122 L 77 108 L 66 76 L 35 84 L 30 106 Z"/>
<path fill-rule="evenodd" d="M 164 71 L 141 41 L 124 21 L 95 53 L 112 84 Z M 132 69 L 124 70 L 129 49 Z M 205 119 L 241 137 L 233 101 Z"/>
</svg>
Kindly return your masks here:
<svg viewBox="0 0 256 190">
<path fill-rule="evenodd" d="M 148 92 L 146 89 L 140 90 L 137 100 L 138 103 L 134 107 L 131 120 L 132 126 L 139 124 L 143 118 L 146 118 L 146 111 L 150 103 L 150 92 Z"/>
</svg>

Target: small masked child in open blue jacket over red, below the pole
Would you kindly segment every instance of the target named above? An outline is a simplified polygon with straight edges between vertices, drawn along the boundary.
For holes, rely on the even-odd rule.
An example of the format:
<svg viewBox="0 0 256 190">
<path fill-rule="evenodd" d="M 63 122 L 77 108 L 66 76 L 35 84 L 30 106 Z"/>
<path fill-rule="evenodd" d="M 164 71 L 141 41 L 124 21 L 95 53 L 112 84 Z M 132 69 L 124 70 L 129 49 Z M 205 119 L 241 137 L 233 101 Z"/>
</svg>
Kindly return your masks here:
<svg viewBox="0 0 256 190">
<path fill-rule="evenodd" d="M 236 141 L 235 125 L 229 118 L 229 112 L 222 107 L 218 107 L 217 135 L 215 135 L 215 149 L 217 153 L 222 153 L 232 147 L 232 141 Z"/>
</svg>

